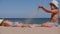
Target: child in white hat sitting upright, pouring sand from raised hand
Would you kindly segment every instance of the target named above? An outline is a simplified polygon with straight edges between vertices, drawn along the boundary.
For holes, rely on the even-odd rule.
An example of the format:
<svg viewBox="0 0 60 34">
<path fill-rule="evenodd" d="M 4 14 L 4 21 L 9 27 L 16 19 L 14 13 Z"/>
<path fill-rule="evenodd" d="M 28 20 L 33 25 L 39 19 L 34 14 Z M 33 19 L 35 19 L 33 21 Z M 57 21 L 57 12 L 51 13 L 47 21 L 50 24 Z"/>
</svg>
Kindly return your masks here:
<svg viewBox="0 0 60 34">
<path fill-rule="evenodd" d="M 51 9 L 45 8 L 43 5 L 39 6 L 39 8 L 43 9 L 47 13 L 51 13 L 51 19 L 49 22 L 43 23 L 43 27 L 53 27 L 58 26 L 58 16 L 59 16 L 59 9 L 58 9 L 58 2 L 56 0 L 53 0 L 51 3 L 49 3 L 51 6 Z"/>
</svg>

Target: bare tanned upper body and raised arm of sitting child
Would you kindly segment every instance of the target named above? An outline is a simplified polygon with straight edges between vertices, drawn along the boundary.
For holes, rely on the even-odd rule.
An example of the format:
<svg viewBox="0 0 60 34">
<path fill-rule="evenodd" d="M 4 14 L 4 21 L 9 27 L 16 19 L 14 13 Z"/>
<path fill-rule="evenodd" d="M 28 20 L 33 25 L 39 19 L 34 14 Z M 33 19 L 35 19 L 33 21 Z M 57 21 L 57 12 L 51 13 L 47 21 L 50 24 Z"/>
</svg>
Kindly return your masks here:
<svg viewBox="0 0 60 34">
<path fill-rule="evenodd" d="M 39 8 L 43 9 L 45 12 L 51 13 L 51 22 L 56 22 L 58 23 L 58 14 L 59 10 L 55 9 L 54 6 L 51 6 L 51 9 L 49 10 L 48 8 L 45 8 L 44 6 L 39 6 Z"/>
</svg>

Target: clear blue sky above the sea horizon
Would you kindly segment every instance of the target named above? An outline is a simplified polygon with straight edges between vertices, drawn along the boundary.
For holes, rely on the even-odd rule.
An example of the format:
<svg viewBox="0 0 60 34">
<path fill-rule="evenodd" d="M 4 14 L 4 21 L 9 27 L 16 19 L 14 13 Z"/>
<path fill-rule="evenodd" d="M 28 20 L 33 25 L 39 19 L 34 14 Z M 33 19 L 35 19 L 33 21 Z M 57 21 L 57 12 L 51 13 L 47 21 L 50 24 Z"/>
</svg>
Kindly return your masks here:
<svg viewBox="0 0 60 34">
<path fill-rule="evenodd" d="M 38 8 L 44 5 L 50 9 L 52 0 L 0 0 L 0 18 L 29 18 Z M 60 3 L 60 0 L 57 0 Z M 59 4 L 60 8 L 60 4 Z M 31 18 L 50 18 L 51 14 L 40 9 Z"/>
</svg>

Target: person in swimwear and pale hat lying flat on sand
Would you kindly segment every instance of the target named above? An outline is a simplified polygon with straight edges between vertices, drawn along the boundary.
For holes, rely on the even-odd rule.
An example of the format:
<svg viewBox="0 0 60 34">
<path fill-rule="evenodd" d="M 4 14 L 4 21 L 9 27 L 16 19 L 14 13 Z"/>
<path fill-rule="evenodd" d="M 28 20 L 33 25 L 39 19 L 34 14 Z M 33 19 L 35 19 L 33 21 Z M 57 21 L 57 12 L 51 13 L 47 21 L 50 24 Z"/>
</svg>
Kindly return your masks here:
<svg viewBox="0 0 60 34">
<path fill-rule="evenodd" d="M 3 19 L 0 19 L 0 26 L 30 27 L 31 28 L 31 26 L 29 24 L 22 24 L 22 23 L 19 23 L 19 22 L 16 22 L 16 24 L 13 24 L 11 21 L 3 20 Z"/>
</svg>

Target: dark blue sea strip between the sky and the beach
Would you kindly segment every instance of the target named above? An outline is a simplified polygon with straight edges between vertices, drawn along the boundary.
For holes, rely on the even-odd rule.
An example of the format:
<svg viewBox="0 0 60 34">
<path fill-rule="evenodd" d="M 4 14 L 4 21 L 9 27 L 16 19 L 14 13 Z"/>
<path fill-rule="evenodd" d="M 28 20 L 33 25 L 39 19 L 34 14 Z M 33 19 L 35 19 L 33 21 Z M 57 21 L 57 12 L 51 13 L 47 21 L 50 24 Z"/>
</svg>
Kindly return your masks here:
<svg viewBox="0 0 60 34">
<path fill-rule="evenodd" d="M 26 23 L 26 20 L 28 21 L 29 18 L 5 18 L 4 20 L 10 20 L 13 23 L 15 23 L 15 22 Z M 45 22 L 47 22 L 49 20 L 50 20 L 50 18 L 32 18 L 28 22 L 28 24 L 42 24 L 42 23 L 45 23 Z M 59 19 L 59 24 L 60 24 L 60 19 Z"/>
</svg>

